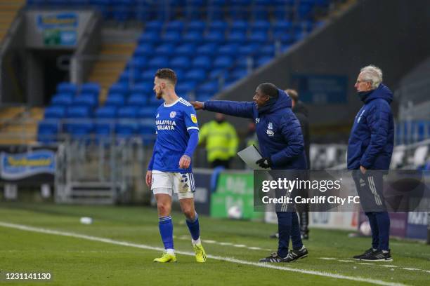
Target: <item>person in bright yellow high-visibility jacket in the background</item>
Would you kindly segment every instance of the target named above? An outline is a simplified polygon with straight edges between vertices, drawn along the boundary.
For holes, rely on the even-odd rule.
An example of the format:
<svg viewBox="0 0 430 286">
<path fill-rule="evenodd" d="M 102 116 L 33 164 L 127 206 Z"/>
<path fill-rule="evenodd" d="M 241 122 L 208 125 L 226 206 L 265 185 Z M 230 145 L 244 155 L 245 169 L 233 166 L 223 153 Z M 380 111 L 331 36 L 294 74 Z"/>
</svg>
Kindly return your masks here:
<svg viewBox="0 0 430 286">
<path fill-rule="evenodd" d="M 199 143 L 206 141 L 207 161 L 211 168 L 230 168 L 230 161 L 236 155 L 239 139 L 233 125 L 223 114 L 215 114 L 215 120 L 200 128 Z"/>
</svg>

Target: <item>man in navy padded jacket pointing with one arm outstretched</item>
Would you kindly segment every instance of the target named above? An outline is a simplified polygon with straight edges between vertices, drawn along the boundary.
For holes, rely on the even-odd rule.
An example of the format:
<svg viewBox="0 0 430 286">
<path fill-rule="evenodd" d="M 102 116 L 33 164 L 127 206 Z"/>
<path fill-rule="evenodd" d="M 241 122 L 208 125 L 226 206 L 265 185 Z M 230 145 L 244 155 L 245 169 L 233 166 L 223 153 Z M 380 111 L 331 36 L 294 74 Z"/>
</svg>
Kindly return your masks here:
<svg viewBox="0 0 430 286">
<path fill-rule="evenodd" d="M 214 100 L 190 102 L 196 110 L 220 112 L 232 116 L 254 118 L 256 135 L 263 158 L 257 161 L 262 168 L 274 170 L 304 170 L 306 155 L 300 123 L 292 112 L 292 102 L 287 93 L 273 83 L 261 83 L 254 102 Z M 278 252 L 260 259 L 261 262 L 292 262 L 308 255 L 301 242 L 299 220 L 296 212 L 276 212 L 278 217 Z M 288 252 L 289 238 L 292 250 Z"/>
</svg>

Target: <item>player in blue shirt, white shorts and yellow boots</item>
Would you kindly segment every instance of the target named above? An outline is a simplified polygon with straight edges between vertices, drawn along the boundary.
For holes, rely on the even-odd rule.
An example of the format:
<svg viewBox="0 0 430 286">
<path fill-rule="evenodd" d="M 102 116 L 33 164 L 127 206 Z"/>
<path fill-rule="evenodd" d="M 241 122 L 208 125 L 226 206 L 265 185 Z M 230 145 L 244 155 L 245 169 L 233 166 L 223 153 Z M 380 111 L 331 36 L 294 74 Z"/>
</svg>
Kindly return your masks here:
<svg viewBox="0 0 430 286">
<path fill-rule="evenodd" d="M 164 100 L 157 109 L 155 124 L 157 140 L 146 172 L 146 184 L 157 200 L 159 234 L 164 244 L 162 257 L 154 262 L 176 262 L 171 222 L 171 196 L 178 195 L 185 214 L 197 262 L 206 261 L 200 226 L 194 207 L 194 177 L 191 158 L 199 142 L 199 127 L 194 107 L 175 93 L 176 74 L 171 69 L 159 69 L 155 74 L 154 91 Z"/>
</svg>

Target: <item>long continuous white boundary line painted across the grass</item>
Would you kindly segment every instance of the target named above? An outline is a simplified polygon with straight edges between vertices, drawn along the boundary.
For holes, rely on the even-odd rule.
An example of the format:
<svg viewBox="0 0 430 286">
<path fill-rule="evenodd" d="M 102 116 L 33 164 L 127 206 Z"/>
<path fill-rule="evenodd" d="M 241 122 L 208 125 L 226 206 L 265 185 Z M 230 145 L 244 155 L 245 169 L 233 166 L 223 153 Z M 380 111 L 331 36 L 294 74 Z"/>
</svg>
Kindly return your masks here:
<svg viewBox="0 0 430 286">
<path fill-rule="evenodd" d="M 68 236 L 68 237 L 72 237 L 72 238 L 82 238 L 82 239 L 86 239 L 86 240 L 98 241 L 101 243 L 110 243 L 113 245 L 137 247 L 137 248 L 141 248 L 144 250 L 157 250 L 157 251 L 163 251 L 164 250 L 164 248 L 162 248 L 162 247 L 153 247 L 150 245 L 142 245 L 142 244 L 137 244 L 137 243 L 127 243 L 125 241 L 112 240 L 110 238 L 98 238 L 96 236 L 86 236 L 84 234 L 70 233 L 70 232 L 66 232 L 66 231 L 54 231 L 51 229 L 41 229 L 38 227 L 25 226 L 22 224 L 10 224 L 8 222 L 0 222 L 0 226 L 8 227 L 11 229 L 20 229 L 22 231 L 32 231 L 32 232 L 37 232 L 37 233 L 53 234 L 56 236 Z M 188 256 L 194 256 L 195 255 L 193 252 L 176 251 L 176 253 L 188 255 Z M 228 262 L 232 262 L 232 263 L 236 263 L 236 264 L 244 264 L 244 265 L 262 267 L 262 268 L 271 268 L 271 269 L 278 269 L 278 270 L 283 270 L 283 271 L 291 271 L 291 272 L 298 272 L 298 273 L 304 273 L 304 274 L 319 275 L 319 276 L 324 276 L 324 277 L 328 277 L 328 278 L 338 278 L 338 279 L 353 280 L 353 281 L 358 281 L 358 282 L 368 282 L 368 283 L 373 283 L 376 285 L 404 286 L 404 284 L 400 284 L 400 283 L 385 282 L 382 280 L 375 280 L 375 279 L 361 278 L 361 277 L 352 277 L 352 276 L 333 274 L 333 273 L 327 273 L 327 272 L 320 272 L 320 271 L 305 270 L 305 269 L 298 269 L 298 268 L 282 267 L 282 266 L 276 266 L 273 264 L 257 263 L 257 262 L 252 262 L 252 261 L 245 261 L 245 260 L 230 258 L 230 257 L 219 257 L 219 256 L 215 256 L 215 255 L 207 255 L 207 257 L 210 259 L 228 261 Z"/>
</svg>

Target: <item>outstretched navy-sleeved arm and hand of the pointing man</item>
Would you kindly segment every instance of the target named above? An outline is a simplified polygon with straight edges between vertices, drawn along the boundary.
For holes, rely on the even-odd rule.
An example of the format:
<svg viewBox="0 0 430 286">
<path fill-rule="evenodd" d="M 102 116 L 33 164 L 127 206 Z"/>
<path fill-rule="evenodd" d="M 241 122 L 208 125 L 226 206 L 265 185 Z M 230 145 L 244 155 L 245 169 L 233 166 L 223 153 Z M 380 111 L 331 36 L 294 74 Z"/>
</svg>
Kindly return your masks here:
<svg viewBox="0 0 430 286">
<path fill-rule="evenodd" d="M 196 110 L 219 112 L 237 117 L 254 118 L 254 102 L 235 102 L 230 100 L 209 100 L 207 102 L 190 102 Z"/>
</svg>

